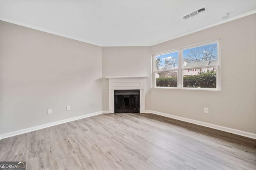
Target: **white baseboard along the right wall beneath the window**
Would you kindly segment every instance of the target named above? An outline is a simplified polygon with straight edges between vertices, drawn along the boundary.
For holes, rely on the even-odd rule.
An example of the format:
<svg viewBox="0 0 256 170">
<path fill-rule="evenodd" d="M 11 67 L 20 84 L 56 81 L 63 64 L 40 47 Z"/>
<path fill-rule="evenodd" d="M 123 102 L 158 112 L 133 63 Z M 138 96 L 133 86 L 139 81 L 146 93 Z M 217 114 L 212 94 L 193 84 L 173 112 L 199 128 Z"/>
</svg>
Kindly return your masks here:
<svg viewBox="0 0 256 170">
<path fill-rule="evenodd" d="M 223 126 L 214 125 L 214 124 L 211 124 L 211 123 L 206 123 L 206 122 L 202 122 L 202 121 L 197 121 L 197 120 L 193 120 L 193 119 L 188 119 L 188 118 L 184 118 L 184 117 L 179 117 L 179 116 L 175 116 L 175 115 L 161 113 L 161 112 L 153 111 L 153 110 L 146 110 L 145 113 L 153 113 L 153 114 L 156 114 L 156 115 L 161 115 L 161 116 L 164 116 L 164 117 L 170 117 L 172 119 L 177 119 L 177 120 L 180 120 L 180 121 L 185 121 L 185 122 L 188 122 L 188 123 L 193 123 L 193 124 L 201 125 L 201 126 L 204 126 L 204 127 L 210 127 L 212 129 L 217 129 L 217 130 L 220 130 L 220 131 L 224 131 L 224 132 L 233 133 L 233 134 L 236 134 L 236 135 L 256 139 L 256 134 L 255 133 L 249 133 L 249 132 L 240 131 L 240 130 L 237 130 L 237 129 L 231 129 L 231 128 L 228 128 L 228 127 L 223 127 Z"/>
</svg>

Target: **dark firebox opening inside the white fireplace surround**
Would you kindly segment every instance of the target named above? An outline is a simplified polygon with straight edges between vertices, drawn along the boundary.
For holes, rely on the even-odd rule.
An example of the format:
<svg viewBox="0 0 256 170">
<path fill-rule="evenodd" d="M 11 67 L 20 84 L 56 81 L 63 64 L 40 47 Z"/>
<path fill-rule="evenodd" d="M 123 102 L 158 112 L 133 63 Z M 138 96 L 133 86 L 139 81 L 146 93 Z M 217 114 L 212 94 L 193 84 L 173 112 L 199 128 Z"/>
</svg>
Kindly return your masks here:
<svg viewBox="0 0 256 170">
<path fill-rule="evenodd" d="M 115 90 L 115 113 L 140 113 L 140 90 Z"/>
</svg>

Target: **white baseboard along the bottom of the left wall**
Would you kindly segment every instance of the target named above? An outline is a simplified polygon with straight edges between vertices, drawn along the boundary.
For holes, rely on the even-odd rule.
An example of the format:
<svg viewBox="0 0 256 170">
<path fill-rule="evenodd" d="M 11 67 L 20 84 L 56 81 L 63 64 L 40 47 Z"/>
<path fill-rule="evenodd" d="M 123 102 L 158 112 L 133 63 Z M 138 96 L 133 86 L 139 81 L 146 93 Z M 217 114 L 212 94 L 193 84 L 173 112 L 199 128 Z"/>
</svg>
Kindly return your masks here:
<svg viewBox="0 0 256 170">
<path fill-rule="evenodd" d="M 18 130 L 18 131 L 4 133 L 4 134 L 0 135 L 0 140 L 4 139 L 4 138 L 12 137 L 12 136 L 20 135 L 20 134 L 23 134 L 23 133 L 28 133 L 28 132 L 36 131 L 36 130 L 39 130 L 39 129 L 44 129 L 46 127 L 51 127 L 51 126 L 55 126 L 55 125 L 60 125 L 62 123 L 67 123 L 67 122 L 70 122 L 70 121 L 84 119 L 86 117 L 100 115 L 102 113 L 103 113 L 103 111 L 98 111 L 98 112 L 89 113 L 89 114 L 82 115 L 82 116 L 77 116 L 77 117 L 72 117 L 72 118 L 69 118 L 69 119 L 55 121 L 55 122 L 52 122 L 52 123 L 47 123 L 47 124 L 44 124 L 44 125 L 39 125 L 39 126 L 29 127 L 29 128 L 26 128 L 26 129 L 21 129 L 21 130 Z"/>
</svg>

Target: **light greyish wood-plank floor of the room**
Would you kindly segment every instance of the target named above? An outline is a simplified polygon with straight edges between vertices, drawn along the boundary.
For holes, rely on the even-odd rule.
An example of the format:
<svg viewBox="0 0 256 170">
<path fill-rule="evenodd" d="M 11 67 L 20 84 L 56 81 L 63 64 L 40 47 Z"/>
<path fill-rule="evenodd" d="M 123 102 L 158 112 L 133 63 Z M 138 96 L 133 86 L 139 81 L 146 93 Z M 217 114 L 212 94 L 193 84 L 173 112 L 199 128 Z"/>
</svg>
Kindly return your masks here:
<svg viewBox="0 0 256 170">
<path fill-rule="evenodd" d="M 2 139 L 27 170 L 255 170 L 256 140 L 154 114 L 88 117 Z"/>
</svg>

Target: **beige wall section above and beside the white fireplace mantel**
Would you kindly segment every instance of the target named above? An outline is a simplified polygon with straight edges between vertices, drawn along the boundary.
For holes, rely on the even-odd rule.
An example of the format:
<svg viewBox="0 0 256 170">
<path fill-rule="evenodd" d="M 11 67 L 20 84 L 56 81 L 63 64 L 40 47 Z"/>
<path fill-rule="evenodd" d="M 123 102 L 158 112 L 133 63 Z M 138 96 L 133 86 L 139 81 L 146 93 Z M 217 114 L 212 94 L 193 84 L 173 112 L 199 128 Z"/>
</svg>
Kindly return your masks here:
<svg viewBox="0 0 256 170">
<path fill-rule="evenodd" d="M 151 108 L 150 47 L 102 47 L 103 110 L 109 110 L 108 79 L 105 76 L 148 76 L 145 108 Z"/>
</svg>

